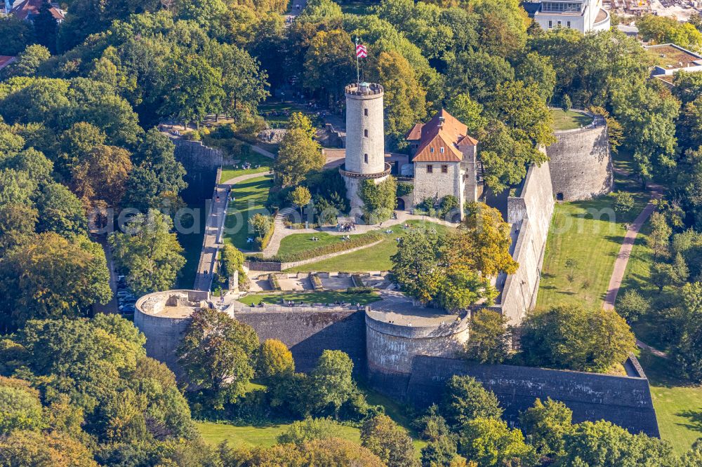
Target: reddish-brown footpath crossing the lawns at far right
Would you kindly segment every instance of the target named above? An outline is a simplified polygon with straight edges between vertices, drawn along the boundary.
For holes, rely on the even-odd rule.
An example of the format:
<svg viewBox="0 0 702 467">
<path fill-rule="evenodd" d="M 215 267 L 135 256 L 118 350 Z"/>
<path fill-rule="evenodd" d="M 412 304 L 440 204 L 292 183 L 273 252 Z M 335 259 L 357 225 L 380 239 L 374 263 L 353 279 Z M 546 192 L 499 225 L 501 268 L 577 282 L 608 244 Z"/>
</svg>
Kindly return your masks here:
<svg viewBox="0 0 702 467">
<path fill-rule="evenodd" d="M 619 175 L 630 175 L 629 172 L 626 172 L 625 170 L 614 170 Z M 619 293 L 619 289 L 621 288 L 621 283 L 624 279 L 624 273 L 626 272 L 626 266 L 629 263 L 629 257 L 631 256 L 631 251 L 633 250 L 634 243 L 636 242 L 636 237 L 638 236 L 642 226 L 646 223 L 649 217 L 651 217 L 651 214 L 653 214 L 653 212 L 656 210 L 656 205 L 654 204 L 654 201 L 661 199 L 661 197 L 663 196 L 663 187 L 661 187 L 661 185 L 649 184 L 648 189 L 651 191 L 651 199 L 647 203 L 644 210 L 641 211 L 640 215 L 636 217 L 633 224 L 631 224 L 628 227 L 626 235 L 624 236 L 624 241 L 621 244 L 621 248 L 619 248 L 619 253 L 616 257 L 616 260 L 614 261 L 614 271 L 612 271 L 612 275 L 609 278 L 609 287 L 607 287 L 607 295 L 604 297 L 603 308 L 605 310 L 614 309 L 616 297 Z M 668 355 L 665 352 L 659 351 L 657 348 L 653 348 L 648 344 L 645 344 L 644 342 L 640 341 L 639 339 L 636 339 L 636 345 L 639 348 L 644 348 L 647 351 L 650 351 L 655 356 L 661 358 L 668 358 Z"/>
</svg>

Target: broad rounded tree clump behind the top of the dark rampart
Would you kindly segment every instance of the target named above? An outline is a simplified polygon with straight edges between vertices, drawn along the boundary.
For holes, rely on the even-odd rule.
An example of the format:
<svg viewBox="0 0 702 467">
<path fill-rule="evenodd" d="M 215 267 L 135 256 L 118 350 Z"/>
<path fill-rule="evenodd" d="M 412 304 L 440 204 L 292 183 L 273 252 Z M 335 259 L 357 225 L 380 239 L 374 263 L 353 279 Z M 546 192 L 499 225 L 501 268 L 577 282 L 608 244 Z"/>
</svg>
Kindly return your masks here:
<svg viewBox="0 0 702 467">
<path fill-rule="evenodd" d="M 522 354 L 530 365 L 605 372 L 635 348 L 629 325 L 614 310 L 554 306 L 527 313 Z"/>
</svg>

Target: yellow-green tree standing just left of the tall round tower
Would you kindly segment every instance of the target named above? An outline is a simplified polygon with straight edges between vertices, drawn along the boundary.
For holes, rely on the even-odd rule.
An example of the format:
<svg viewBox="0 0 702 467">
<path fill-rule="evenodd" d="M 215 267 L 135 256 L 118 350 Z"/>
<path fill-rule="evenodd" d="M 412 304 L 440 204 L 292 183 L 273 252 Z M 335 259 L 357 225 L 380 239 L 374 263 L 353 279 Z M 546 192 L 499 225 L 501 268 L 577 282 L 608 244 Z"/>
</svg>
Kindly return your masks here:
<svg viewBox="0 0 702 467">
<path fill-rule="evenodd" d="M 276 182 L 283 187 L 300 184 L 310 171 L 320 170 L 323 166 L 324 156 L 319 144 L 305 130 L 288 130 L 273 163 Z"/>
</svg>

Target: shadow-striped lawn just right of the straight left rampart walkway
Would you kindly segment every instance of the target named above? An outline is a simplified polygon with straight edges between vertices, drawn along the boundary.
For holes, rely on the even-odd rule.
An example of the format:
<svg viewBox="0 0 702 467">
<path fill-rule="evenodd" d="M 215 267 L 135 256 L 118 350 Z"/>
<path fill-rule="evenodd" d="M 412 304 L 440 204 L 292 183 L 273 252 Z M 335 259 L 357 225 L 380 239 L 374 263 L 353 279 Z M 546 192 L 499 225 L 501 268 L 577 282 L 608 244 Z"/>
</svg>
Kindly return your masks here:
<svg viewBox="0 0 702 467">
<path fill-rule="evenodd" d="M 232 194 L 236 201 L 230 201 L 227 210 L 225 243 L 231 243 L 239 250 L 251 250 L 251 243 L 246 243 L 247 238 L 254 236 L 249 232 L 249 218 L 258 212 L 267 213 L 264 204 L 268 199 L 272 180 L 272 175 L 266 175 L 234 185 Z"/>
</svg>

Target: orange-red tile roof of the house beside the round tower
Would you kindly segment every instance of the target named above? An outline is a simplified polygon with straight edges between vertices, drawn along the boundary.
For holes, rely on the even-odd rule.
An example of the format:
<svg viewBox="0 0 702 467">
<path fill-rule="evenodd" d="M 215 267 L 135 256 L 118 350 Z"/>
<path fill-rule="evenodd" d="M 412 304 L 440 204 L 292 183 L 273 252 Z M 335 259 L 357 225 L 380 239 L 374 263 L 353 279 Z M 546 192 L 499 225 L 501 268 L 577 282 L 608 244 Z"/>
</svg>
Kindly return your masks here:
<svg viewBox="0 0 702 467">
<path fill-rule="evenodd" d="M 458 150 L 458 145 L 478 144 L 475 138 L 468 136 L 468 127 L 445 109 L 418 128 L 419 125 L 415 125 L 407 135 L 408 140 L 420 140 L 412 162 L 460 162 L 463 154 Z M 420 133 L 420 138 L 410 138 L 415 133 Z"/>
</svg>

